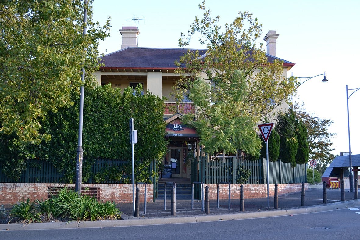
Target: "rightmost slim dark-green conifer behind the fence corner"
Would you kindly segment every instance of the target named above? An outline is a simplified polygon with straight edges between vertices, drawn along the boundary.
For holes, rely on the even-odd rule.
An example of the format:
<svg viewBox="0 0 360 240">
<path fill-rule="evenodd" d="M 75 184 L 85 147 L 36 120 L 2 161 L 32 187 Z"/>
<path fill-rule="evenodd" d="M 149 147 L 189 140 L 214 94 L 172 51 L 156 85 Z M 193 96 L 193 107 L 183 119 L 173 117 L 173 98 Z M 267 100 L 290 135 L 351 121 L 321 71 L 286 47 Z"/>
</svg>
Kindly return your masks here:
<svg viewBox="0 0 360 240">
<path fill-rule="evenodd" d="M 296 138 L 298 142 L 296 163 L 303 164 L 309 160 L 309 145 L 307 144 L 307 130 L 301 119 L 296 120 Z"/>
</svg>

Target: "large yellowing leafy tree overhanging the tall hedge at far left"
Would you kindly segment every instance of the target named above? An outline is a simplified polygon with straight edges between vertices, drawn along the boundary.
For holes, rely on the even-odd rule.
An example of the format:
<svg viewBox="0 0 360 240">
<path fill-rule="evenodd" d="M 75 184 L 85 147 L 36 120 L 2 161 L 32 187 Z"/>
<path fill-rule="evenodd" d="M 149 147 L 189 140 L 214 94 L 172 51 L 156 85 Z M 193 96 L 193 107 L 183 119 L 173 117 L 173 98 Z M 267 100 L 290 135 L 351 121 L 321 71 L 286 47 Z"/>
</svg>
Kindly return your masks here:
<svg viewBox="0 0 360 240">
<path fill-rule="evenodd" d="M 48 141 L 41 121 L 72 104 L 81 68 L 98 69 L 98 41 L 108 34 L 80 0 L 3 0 L 0 3 L 0 133 L 12 145 Z M 87 8 L 87 35 L 83 12 Z M 84 50 L 86 49 L 86 50 Z M 22 149 L 21 151 L 23 151 Z"/>
</svg>

